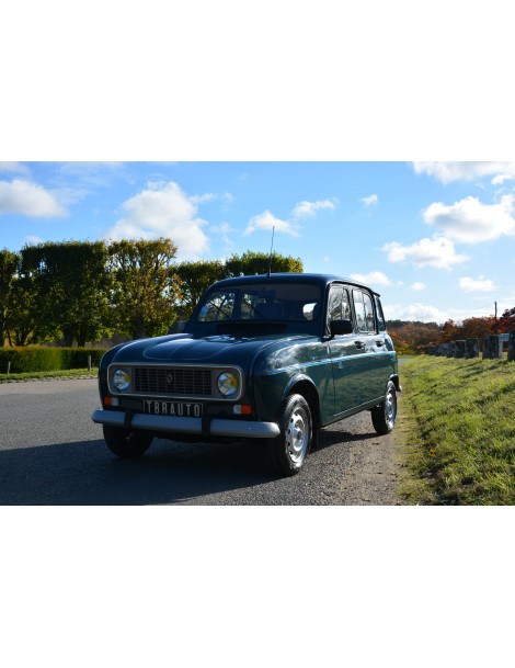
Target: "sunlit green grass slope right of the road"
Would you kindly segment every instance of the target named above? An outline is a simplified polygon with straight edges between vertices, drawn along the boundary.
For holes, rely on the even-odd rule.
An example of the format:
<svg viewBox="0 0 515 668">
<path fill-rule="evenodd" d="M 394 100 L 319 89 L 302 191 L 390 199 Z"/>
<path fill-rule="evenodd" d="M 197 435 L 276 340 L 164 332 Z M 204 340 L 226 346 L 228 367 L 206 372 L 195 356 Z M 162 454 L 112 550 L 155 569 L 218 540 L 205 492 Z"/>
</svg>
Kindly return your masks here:
<svg viewBox="0 0 515 668">
<path fill-rule="evenodd" d="M 408 503 L 515 503 L 515 363 L 422 355 L 401 366 Z"/>
</svg>

